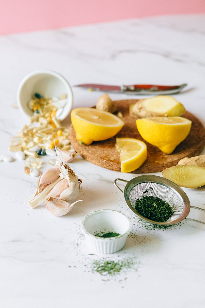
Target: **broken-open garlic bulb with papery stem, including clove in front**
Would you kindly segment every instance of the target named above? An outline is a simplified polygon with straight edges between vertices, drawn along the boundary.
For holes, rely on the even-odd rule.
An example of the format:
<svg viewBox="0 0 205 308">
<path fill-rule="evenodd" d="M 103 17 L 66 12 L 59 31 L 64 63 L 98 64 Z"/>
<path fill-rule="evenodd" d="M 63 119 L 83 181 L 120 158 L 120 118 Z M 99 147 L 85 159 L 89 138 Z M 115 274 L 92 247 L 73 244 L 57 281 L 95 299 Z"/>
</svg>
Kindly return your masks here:
<svg viewBox="0 0 205 308">
<path fill-rule="evenodd" d="M 39 176 L 36 193 L 29 199 L 29 204 L 31 208 L 35 208 L 46 201 L 46 206 L 51 213 L 55 212 L 54 215 L 62 216 L 72 209 L 74 205 L 72 202 L 78 197 L 83 181 L 78 179 L 73 170 L 63 163 L 59 148 L 56 148 L 56 154 L 57 166 L 46 170 Z M 62 211 L 62 208 L 66 210 Z"/>
</svg>

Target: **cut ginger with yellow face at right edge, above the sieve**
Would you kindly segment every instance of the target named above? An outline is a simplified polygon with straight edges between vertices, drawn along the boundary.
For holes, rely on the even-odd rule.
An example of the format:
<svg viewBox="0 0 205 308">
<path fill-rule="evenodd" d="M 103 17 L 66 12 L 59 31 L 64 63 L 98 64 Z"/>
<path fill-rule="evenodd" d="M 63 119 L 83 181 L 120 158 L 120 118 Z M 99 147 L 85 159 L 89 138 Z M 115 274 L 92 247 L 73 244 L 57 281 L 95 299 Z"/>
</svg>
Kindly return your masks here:
<svg viewBox="0 0 205 308">
<path fill-rule="evenodd" d="M 181 187 L 201 187 L 205 185 L 205 155 L 184 157 L 177 166 L 163 170 L 162 175 Z"/>
</svg>

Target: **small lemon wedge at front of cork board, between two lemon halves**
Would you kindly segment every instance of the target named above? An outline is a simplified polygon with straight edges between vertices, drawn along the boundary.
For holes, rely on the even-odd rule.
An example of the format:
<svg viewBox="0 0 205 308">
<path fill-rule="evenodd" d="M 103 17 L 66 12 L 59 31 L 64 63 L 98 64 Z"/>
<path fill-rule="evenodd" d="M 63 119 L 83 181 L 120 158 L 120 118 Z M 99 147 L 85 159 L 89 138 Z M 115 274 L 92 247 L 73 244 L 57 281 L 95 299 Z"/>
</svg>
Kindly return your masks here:
<svg viewBox="0 0 205 308">
<path fill-rule="evenodd" d="M 120 152 L 121 172 L 139 168 L 147 158 L 147 146 L 138 139 L 116 138 L 116 149 Z"/>
</svg>

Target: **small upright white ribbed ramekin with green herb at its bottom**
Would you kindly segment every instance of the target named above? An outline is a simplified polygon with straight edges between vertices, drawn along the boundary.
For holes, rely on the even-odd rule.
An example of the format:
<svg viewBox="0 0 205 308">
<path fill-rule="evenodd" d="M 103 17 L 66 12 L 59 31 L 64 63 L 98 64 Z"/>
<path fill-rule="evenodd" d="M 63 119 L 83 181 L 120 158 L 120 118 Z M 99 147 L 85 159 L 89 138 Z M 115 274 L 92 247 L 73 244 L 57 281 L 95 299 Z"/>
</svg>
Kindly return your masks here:
<svg viewBox="0 0 205 308">
<path fill-rule="evenodd" d="M 125 245 L 128 234 L 132 229 L 130 219 L 115 210 L 99 210 L 87 214 L 81 224 L 89 252 L 115 253 Z M 96 233 L 120 233 L 116 237 L 97 237 Z"/>
</svg>

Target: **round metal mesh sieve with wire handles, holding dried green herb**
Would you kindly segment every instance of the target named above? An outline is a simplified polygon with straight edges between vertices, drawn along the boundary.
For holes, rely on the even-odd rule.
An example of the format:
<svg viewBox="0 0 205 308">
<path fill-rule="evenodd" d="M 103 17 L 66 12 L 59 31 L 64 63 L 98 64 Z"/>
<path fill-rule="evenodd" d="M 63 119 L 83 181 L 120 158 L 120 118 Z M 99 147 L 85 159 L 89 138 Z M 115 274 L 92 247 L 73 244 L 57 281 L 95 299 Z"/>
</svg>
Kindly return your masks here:
<svg viewBox="0 0 205 308">
<path fill-rule="evenodd" d="M 126 182 L 127 185 L 124 188 L 124 192 L 120 187 L 117 186 L 117 181 Z M 173 225 L 178 222 L 187 219 L 192 221 L 197 221 L 205 224 L 203 221 L 195 220 L 192 218 L 186 218 L 190 212 L 190 209 L 199 209 L 205 212 L 205 209 L 198 208 L 196 206 L 191 206 L 189 198 L 186 193 L 172 181 L 165 179 L 161 176 L 155 175 L 142 175 L 133 178 L 130 181 L 123 179 L 115 179 L 114 185 L 121 193 L 124 193 L 124 199 L 128 207 L 134 212 L 138 217 L 156 225 Z M 166 201 L 171 208 L 174 210 L 174 214 L 165 222 L 158 222 L 150 220 L 144 216 L 141 216 L 134 205 L 137 199 L 143 197 L 144 192 L 148 191 L 148 196 L 158 197 L 163 201 Z"/>
</svg>

